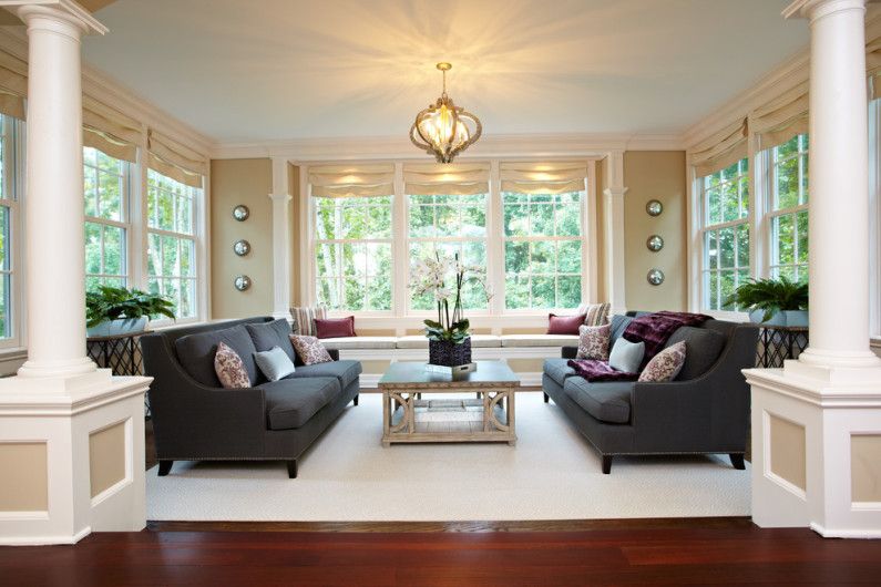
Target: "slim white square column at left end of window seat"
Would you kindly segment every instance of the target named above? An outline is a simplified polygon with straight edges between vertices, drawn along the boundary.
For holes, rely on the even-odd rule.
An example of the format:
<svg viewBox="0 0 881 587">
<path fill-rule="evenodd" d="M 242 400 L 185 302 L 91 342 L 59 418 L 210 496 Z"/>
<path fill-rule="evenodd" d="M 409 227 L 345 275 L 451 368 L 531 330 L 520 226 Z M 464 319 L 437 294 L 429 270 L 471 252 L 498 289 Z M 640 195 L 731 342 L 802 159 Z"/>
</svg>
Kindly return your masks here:
<svg viewBox="0 0 881 587">
<path fill-rule="evenodd" d="M 288 161 L 273 157 L 273 317 L 290 316 L 290 186 Z"/>
</svg>

